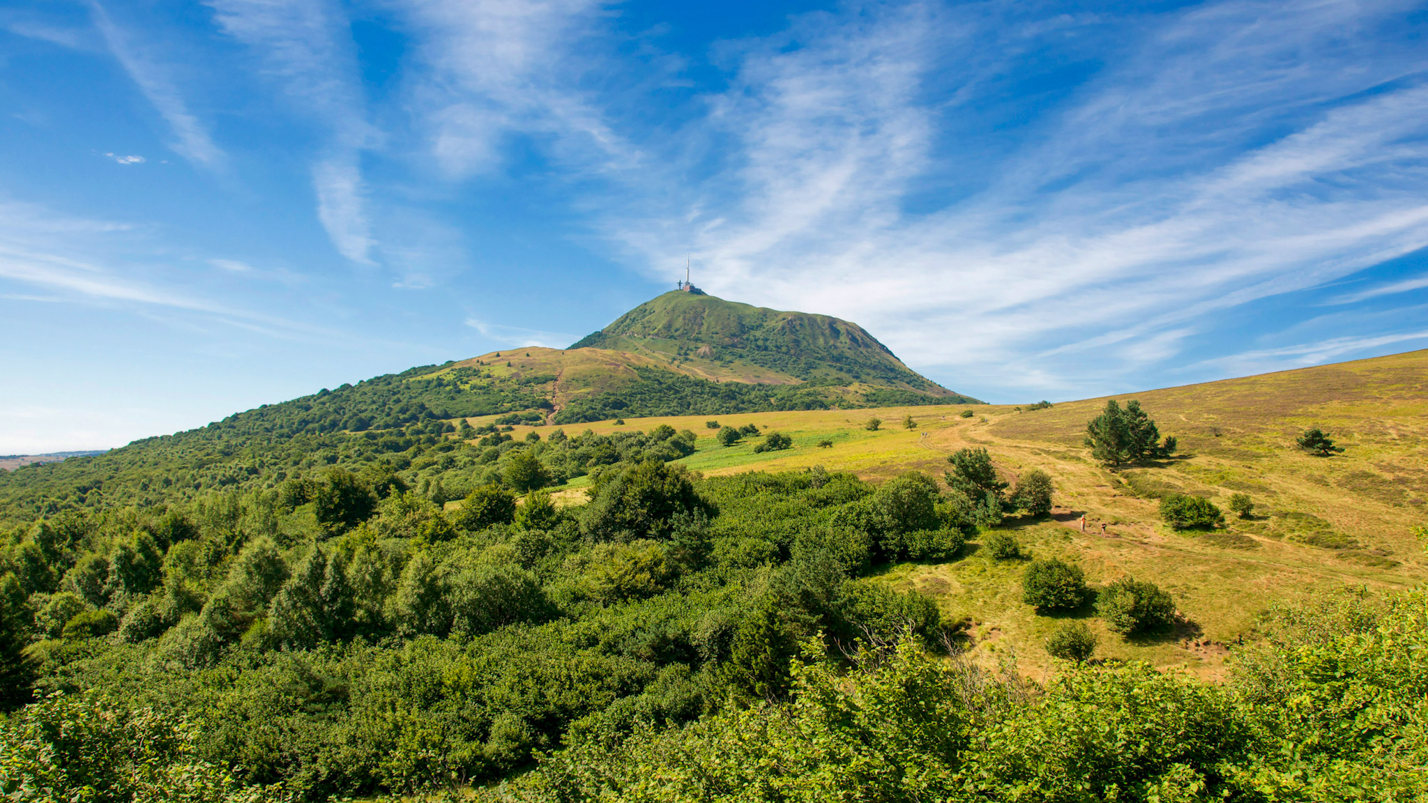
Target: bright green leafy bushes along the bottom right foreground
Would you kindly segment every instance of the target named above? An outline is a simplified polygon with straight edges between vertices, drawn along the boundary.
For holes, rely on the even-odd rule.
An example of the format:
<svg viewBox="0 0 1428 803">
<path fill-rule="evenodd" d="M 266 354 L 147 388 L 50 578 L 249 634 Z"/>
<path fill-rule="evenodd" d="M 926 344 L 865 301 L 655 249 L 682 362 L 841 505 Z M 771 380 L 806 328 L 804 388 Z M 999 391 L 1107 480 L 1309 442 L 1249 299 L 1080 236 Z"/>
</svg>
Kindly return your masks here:
<svg viewBox="0 0 1428 803">
<path fill-rule="evenodd" d="M 1044 687 L 925 652 L 795 662 L 794 699 L 593 737 L 491 800 L 1421 800 L 1428 594 L 1279 609 L 1214 686 L 1067 664 Z"/>
</svg>

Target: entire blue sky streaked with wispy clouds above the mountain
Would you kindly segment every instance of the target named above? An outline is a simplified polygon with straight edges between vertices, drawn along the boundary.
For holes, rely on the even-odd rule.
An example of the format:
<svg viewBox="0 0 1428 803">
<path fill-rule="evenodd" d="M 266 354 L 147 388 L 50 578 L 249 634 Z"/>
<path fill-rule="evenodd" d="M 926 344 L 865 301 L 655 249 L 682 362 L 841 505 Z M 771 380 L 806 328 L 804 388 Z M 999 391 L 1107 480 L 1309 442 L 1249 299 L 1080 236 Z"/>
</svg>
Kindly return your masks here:
<svg viewBox="0 0 1428 803">
<path fill-rule="evenodd" d="M 992 402 L 1428 347 L 1422 3 L 9 0 L 0 453 L 673 286 Z"/>
</svg>

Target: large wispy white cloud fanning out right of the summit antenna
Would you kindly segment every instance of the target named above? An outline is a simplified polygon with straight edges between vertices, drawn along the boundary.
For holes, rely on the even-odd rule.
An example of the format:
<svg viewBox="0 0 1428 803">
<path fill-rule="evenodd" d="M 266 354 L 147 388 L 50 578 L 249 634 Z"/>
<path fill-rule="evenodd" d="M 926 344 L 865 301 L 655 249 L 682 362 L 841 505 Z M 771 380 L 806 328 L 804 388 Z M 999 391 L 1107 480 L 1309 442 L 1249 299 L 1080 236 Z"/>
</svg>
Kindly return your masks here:
<svg viewBox="0 0 1428 803">
<path fill-rule="evenodd" d="M 1428 246 L 1428 57 L 1355 34 L 1404 9 L 1132 20 L 1140 43 L 1000 134 L 1015 150 L 975 180 L 947 120 L 977 119 L 1000 73 L 1032 67 L 1007 53 L 1095 37 L 1104 19 L 810 16 L 741 43 L 708 99 L 721 170 L 701 173 L 703 153 L 665 163 L 645 181 L 660 194 L 621 196 L 603 226 L 651 274 L 693 251 L 715 293 L 851 317 L 974 387 L 1092 391 L 1175 359 L 1217 311 Z"/>
</svg>

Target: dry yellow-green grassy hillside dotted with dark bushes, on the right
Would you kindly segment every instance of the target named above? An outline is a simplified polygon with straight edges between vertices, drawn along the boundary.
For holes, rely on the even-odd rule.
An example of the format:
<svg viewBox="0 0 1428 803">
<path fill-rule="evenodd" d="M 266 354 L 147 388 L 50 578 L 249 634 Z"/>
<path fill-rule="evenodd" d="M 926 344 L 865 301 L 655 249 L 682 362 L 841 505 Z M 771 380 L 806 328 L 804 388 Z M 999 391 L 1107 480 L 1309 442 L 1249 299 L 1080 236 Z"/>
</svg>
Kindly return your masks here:
<svg viewBox="0 0 1428 803">
<path fill-rule="evenodd" d="M 1032 412 L 920 406 L 718 416 L 720 424 L 755 423 L 791 434 L 794 447 L 754 453 L 754 440 L 723 447 L 701 437 L 681 462 L 711 476 L 821 464 L 880 482 L 907 470 L 940 477 L 948 453 L 984 446 L 1008 480 L 1044 469 L 1055 477 L 1057 509 L 1051 522 L 1010 522 L 1022 543 L 1037 556 L 1074 559 L 1092 582 L 1122 574 L 1155 582 L 1175 594 L 1188 619 L 1180 632 L 1140 643 L 1101 629 L 1102 654 L 1210 674 L 1222 667 L 1224 644 L 1252 636 L 1255 617 L 1271 602 L 1345 584 L 1389 589 L 1428 580 L 1428 556 L 1409 532 L 1428 526 L 1428 351 L 1121 399 L 1138 399 L 1164 434 L 1180 439 L 1174 459 L 1118 473 L 1095 464 L 1081 442 L 1105 400 L 1088 399 Z M 961 417 L 964 410 L 974 417 Z M 908 414 L 915 430 L 901 426 Z M 883 419 L 883 429 L 864 429 L 870 417 Z M 704 436 L 713 433 L 705 420 L 631 419 L 624 427 L 604 422 L 591 429 L 670 424 Z M 1344 453 L 1298 450 L 1294 439 L 1309 426 L 1329 432 Z M 823 440 L 833 446 L 820 449 Z M 1221 509 L 1230 494 L 1248 493 L 1255 516 L 1228 514 L 1218 533 L 1174 533 L 1160 522 L 1164 493 L 1207 496 Z M 1075 526 L 1081 514 L 1084 534 Z M 951 616 L 972 617 L 974 654 L 995 659 L 1011 649 L 1024 667 L 1045 669 L 1041 640 L 1055 619 L 1021 604 L 1021 564 L 987 560 L 975 544 L 968 553 L 947 564 L 897 566 L 884 577 L 932 594 Z"/>
</svg>

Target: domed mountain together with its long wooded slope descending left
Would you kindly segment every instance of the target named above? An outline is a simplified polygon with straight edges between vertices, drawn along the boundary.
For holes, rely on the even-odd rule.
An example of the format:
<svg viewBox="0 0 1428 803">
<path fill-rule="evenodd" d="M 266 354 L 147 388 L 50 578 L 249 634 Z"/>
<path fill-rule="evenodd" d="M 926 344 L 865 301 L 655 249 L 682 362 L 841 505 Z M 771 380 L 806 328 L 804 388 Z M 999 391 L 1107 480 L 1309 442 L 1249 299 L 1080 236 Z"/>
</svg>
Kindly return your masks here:
<svg viewBox="0 0 1428 803">
<path fill-rule="evenodd" d="M 273 487 L 333 464 L 386 464 L 413 486 L 440 476 L 448 489 L 467 489 L 496 477 L 506 452 L 448 440 L 464 419 L 488 433 L 621 416 L 972 402 L 908 370 L 857 324 L 827 316 L 668 293 L 608 329 L 623 334 L 601 333 L 601 347 L 501 350 L 414 367 L 104 454 L 0 472 L 0 523 Z M 453 474 L 453 464 L 461 472 Z M 551 469 L 578 476 L 588 466 L 580 457 Z"/>
</svg>

